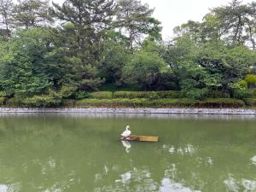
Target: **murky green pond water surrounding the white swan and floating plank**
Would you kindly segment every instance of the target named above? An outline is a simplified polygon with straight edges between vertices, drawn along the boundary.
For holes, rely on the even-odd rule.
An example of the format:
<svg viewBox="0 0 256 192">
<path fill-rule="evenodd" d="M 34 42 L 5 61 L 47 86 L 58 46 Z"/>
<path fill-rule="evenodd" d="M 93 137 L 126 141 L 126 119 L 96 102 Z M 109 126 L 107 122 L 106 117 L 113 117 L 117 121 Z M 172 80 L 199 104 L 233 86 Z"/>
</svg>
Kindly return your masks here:
<svg viewBox="0 0 256 192">
<path fill-rule="evenodd" d="M 160 142 L 121 143 L 125 125 Z M 256 191 L 256 118 L 0 114 L 7 191 Z"/>
</svg>

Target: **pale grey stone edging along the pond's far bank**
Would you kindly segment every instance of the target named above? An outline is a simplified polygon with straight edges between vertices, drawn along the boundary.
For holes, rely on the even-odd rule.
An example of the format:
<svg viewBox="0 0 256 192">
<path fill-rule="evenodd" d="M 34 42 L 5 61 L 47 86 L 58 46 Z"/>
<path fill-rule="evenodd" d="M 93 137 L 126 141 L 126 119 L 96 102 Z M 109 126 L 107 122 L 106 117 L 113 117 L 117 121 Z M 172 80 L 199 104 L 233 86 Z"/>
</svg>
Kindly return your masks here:
<svg viewBox="0 0 256 192">
<path fill-rule="evenodd" d="M 245 108 L 0 108 L 0 113 L 163 113 L 254 115 Z"/>
</svg>

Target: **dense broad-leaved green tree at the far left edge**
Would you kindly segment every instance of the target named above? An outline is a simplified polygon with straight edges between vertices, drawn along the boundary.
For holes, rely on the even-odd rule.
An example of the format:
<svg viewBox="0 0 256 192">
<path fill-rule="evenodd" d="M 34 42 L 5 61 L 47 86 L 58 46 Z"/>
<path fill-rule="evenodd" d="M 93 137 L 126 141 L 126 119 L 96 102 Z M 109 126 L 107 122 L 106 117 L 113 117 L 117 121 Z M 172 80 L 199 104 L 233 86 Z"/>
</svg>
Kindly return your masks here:
<svg viewBox="0 0 256 192">
<path fill-rule="evenodd" d="M 0 84 L 10 93 L 41 94 L 52 83 L 45 73 L 45 31 L 26 30 L 5 43 L 0 55 Z"/>
</svg>

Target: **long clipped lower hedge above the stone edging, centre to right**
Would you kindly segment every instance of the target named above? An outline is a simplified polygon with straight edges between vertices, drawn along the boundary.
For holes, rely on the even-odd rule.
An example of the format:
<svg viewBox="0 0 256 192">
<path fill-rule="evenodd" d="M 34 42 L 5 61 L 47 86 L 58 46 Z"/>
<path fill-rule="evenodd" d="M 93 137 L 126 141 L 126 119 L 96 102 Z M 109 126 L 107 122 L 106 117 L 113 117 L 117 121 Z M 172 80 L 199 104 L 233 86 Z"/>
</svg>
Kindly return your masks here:
<svg viewBox="0 0 256 192">
<path fill-rule="evenodd" d="M 236 99 L 207 99 L 205 101 L 183 99 L 84 99 L 75 102 L 76 108 L 242 108 L 245 103 Z"/>
</svg>

